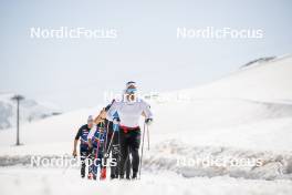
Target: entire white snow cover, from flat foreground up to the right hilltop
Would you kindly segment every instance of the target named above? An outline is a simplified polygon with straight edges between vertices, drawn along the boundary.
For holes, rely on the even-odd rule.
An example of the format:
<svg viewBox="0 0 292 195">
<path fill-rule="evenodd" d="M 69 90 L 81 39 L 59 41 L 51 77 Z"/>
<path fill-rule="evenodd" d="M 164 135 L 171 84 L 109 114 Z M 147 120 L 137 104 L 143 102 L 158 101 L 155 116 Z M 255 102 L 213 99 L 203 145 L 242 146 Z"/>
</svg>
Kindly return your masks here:
<svg viewBox="0 0 292 195">
<path fill-rule="evenodd" d="M 88 114 L 84 109 L 0 132 L 1 194 L 292 194 L 292 57 L 249 65 L 196 88 L 152 100 L 143 177 L 127 183 L 88 182 L 76 168 L 32 168 L 32 155 L 71 154 L 73 137 Z M 202 166 L 177 160 L 255 158 L 261 166 Z M 29 187 L 32 184 L 35 187 Z M 4 187 L 2 187 L 4 186 Z"/>
</svg>

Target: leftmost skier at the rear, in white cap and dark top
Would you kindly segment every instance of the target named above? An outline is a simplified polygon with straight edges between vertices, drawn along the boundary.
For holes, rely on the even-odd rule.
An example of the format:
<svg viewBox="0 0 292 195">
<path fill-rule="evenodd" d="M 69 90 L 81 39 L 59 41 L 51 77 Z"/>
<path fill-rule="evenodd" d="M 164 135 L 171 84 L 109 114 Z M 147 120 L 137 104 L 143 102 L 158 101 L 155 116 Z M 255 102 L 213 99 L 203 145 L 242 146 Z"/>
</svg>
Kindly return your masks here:
<svg viewBox="0 0 292 195">
<path fill-rule="evenodd" d="M 79 129 L 79 132 L 77 132 L 75 140 L 74 140 L 74 147 L 73 147 L 73 156 L 74 157 L 77 156 L 76 147 L 77 147 L 79 140 L 81 141 L 81 143 L 80 143 L 80 156 L 81 156 L 81 177 L 82 178 L 85 177 L 85 168 L 86 168 L 85 160 L 91 154 L 90 147 L 88 147 L 88 142 L 87 142 L 87 135 L 88 135 L 92 126 L 93 126 L 93 117 L 90 115 L 87 119 L 87 124 L 84 124 Z M 91 174 L 91 167 L 88 167 L 88 174 Z"/>
</svg>

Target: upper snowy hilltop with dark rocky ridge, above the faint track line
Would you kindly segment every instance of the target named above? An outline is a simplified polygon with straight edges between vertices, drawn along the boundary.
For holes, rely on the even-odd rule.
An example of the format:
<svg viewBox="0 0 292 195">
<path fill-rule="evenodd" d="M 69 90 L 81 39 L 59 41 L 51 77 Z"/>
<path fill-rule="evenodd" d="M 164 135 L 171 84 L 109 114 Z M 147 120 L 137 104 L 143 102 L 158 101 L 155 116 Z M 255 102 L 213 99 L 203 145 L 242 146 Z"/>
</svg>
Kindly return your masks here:
<svg viewBox="0 0 292 195">
<path fill-rule="evenodd" d="M 251 64 L 221 80 L 179 93 L 191 99 L 232 98 L 291 103 L 291 73 L 292 55 L 285 55 Z"/>
</svg>

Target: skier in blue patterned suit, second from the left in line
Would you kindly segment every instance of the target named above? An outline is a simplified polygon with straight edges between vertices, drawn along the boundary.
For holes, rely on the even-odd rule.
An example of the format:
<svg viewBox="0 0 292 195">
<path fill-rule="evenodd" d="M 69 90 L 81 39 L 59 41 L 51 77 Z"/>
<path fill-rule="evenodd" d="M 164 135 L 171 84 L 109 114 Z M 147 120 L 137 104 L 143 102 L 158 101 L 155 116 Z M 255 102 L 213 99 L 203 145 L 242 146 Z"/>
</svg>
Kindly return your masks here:
<svg viewBox="0 0 292 195">
<path fill-rule="evenodd" d="M 104 153 L 104 141 L 106 136 L 106 130 L 104 126 L 104 122 L 100 122 L 96 126 L 94 126 L 88 135 L 88 147 L 92 148 L 92 175 L 93 179 L 97 178 L 97 172 L 100 167 L 100 173 L 103 167 L 103 153 Z"/>
</svg>

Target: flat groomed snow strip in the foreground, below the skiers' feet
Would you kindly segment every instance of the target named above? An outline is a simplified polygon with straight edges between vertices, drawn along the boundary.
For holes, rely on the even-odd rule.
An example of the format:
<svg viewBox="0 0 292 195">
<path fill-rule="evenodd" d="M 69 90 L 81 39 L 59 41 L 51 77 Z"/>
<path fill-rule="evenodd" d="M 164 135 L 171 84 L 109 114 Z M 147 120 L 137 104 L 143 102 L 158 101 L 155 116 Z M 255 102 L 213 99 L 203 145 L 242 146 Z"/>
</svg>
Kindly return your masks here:
<svg viewBox="0 0 292 195">
<path fill-rule="evenodd" d="M 79 177 L 77 170 L 0 168 L 0 194 L 264 194 L 284 195 L 292 191 L 291 181 L 260 181 L 232 177 L 184 178 L 171 172 L 145 173 L 135 182 L 92 182 Z"/>
</svg>

